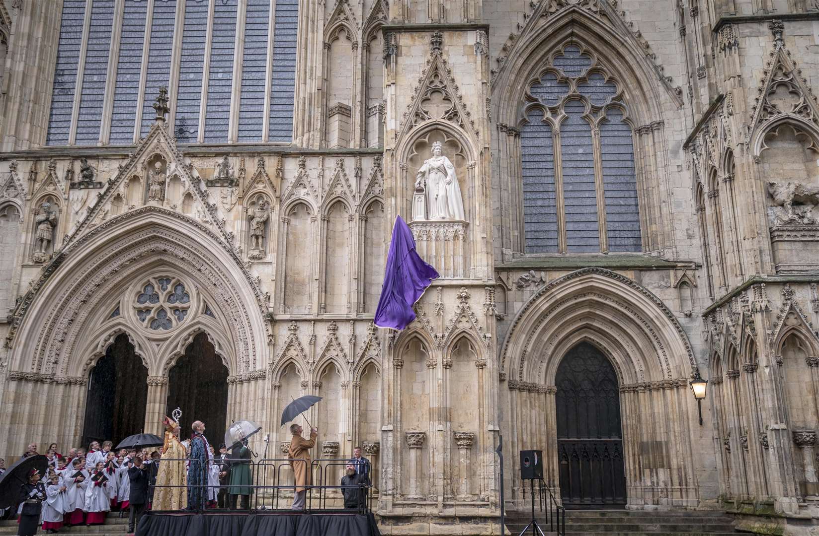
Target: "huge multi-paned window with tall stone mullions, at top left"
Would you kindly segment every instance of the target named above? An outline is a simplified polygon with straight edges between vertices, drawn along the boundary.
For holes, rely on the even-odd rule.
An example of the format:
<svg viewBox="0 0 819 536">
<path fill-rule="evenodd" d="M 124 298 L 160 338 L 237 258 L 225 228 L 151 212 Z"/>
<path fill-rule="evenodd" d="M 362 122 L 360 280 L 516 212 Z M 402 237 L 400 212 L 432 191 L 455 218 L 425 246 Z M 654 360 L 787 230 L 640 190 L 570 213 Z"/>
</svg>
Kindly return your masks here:
<svg viewBox="0 0 819 536">
<path fill-rule="evenodd" d="M 64 0 L 46 144 L 137 142 L 161 86 L 179 142 L 290 142 L 298 9 L 298 0 Z"/>
</svg>

